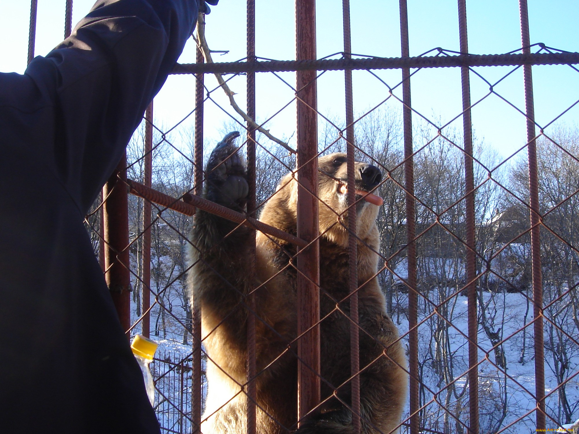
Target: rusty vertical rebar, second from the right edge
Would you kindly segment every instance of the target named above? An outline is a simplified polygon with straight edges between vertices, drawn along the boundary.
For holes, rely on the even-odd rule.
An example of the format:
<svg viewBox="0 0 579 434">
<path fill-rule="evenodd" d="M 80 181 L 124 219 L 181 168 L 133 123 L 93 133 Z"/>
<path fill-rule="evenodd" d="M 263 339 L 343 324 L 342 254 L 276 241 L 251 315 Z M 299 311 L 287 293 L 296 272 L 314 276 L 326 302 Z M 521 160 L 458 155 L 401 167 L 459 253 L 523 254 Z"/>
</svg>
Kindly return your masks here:
<svg viewBox="0 0 579 434">
<path fill-rule="evenodd" d="M 459 39 L 460 52 L 468 53 L 467 6 L 466 0 L 459 0 Z M 475 253 L 475 216 L 474 216 L 474 163 L 472 160 L 472 122 L 470 101 L 469 69 L 460 69 L 463 93 L 463 131 L 464 131 L 464 182 L 466 193 L 466 243 L 467 243 L 467 297 L 468 297 L 468 405 L 470 420 L 469 434 L 478 434 L 478 319 L 477 319 L 477 255 Z"/>
</svg>

